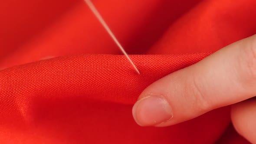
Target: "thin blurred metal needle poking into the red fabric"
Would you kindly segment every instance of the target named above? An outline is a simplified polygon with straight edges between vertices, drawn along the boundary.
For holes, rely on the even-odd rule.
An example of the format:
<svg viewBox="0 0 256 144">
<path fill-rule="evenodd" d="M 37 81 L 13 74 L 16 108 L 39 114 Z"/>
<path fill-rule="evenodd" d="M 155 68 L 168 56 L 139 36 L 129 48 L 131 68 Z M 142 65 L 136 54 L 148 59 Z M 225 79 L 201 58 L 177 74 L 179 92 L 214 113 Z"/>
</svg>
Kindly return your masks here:
<svg viewBox="0 0 256 144">
<path fill-rule="evenodd" d="M 117 38 L 115 37 L 115 35 L 112 33 L 111 29 L 108 27 L 107 23 L 105 22 L 105 20 L 102 18 L 102 16 L 100 15 L 100 13 L 98 12 L 98 10 L 96 9 L 96 7 L 94 6 L 94 4 L 91 2 L 91 0 L 84 0 L 85 3 L 89 6 L 89 8 L 92 10 L 92 13 L 94 13 L 94 15 L 97 17 L 97 19 L 99 20 L 99 22 L 102 24 L 102 26 L 105 28 L 105 30 L 108 32 L 108 34 L 112 37 L 112 39 L 114 40 L 114 42 L 117 44 L 118 48 L 123 52 L 123 54 L 126 56 L 126 58 L 128 59 L 128 61 L 131 63 L 131 65 L 134 67 L 134 69 L 136 70 L 136 72 L 138 72 L 138 74 L 140 74 L 139 70 L 137 69 L 137 67 L 135 66 L 135 64 L 132 62 L 132 60 L 130 59 L 130 57 L 128 56 L 128 54 L 125 52 L 125 49 L 121 46 L 121 44 L 118 42 Z"/>
</svg>

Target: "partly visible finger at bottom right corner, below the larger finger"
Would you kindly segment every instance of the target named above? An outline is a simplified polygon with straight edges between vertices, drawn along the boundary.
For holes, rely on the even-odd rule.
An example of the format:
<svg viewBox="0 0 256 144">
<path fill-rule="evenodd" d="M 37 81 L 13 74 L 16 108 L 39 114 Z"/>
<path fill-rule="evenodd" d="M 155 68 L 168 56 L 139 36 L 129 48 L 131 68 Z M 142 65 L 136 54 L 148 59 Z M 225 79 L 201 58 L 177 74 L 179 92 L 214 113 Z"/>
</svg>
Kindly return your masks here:
<svg viewBox="0 0 256 144">
<path fill-rule="evenodd" d="M 236 131 L 252 144 L 256 144 L 256 99 L 232 105 L 231 119 Z"/>
</svg>

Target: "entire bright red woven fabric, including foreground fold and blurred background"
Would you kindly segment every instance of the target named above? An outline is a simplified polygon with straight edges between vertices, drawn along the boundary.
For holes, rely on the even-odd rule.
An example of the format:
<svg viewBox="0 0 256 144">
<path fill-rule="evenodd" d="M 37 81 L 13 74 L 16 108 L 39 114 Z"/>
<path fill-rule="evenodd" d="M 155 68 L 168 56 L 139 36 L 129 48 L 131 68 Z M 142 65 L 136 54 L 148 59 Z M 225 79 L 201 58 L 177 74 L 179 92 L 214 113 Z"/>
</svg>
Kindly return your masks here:
<svg viewBox="0 0 256 144">
<path fill-rule="evenodd" d="M 3 1 L 1 144 L 246 144 L 226 131 L 228 107 L 167 128 L 139 127 L 131 108 L 155 80 L 256 33 L 255 0 L 93 2 L 141 75 L 82 0 Z"/>
</svg>

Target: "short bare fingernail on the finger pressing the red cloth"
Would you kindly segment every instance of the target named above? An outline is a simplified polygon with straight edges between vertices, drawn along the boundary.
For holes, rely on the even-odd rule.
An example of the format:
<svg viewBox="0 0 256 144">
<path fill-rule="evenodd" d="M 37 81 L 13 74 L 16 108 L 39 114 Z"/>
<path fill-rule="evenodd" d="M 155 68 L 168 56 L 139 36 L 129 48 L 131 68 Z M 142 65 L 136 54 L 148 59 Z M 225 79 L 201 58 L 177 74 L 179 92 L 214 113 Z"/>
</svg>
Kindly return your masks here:
<svg viewBox="0 0 256 144">
<path fill-rule="evenodd" d="M 169 121 L 173 112 L 168 101 L 160 96 L 148 96 L 137 101 L 132 115 L 141 126 L 154 126 Z"/>
</svg>

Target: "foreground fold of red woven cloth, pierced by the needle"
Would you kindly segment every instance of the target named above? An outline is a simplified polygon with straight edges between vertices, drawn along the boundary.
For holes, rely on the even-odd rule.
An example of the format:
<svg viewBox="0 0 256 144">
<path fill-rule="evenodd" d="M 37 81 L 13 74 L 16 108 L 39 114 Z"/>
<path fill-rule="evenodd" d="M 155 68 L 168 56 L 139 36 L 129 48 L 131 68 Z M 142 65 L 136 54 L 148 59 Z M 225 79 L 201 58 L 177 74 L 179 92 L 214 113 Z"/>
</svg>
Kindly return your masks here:
<svg viewBox="0 0 256 144">
<path fill-rule="evenodd" d="M 0 116 L 2 130 L 9 132 L 3 143 L 13 142 L 6 141 L 13 131 L 22 132 L 15 135 L 29 143 L 44 143 L 42 137 L 60 143 L 58 137 L 66 135 L 61 138 L 65 144 L 213 142 L 229 123 L 228 108 L 172 128 L 140 128 L 131 115 L 144 88 L 209 54 L 131 56 L 140 75 L 125 56 L 117 55 L 59 57 L 2 70 Z"/>
</svg>

